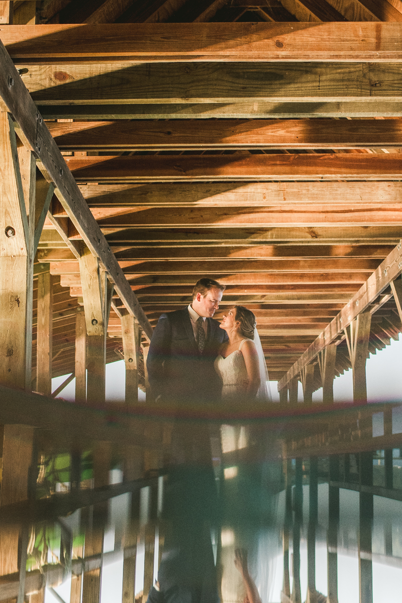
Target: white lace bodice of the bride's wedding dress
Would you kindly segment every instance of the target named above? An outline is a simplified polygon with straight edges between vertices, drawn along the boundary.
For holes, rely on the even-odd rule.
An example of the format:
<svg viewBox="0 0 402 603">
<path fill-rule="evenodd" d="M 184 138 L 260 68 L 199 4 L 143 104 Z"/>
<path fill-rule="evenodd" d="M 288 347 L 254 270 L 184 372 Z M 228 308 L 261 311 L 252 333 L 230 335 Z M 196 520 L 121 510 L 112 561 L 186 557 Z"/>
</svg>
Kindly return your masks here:
<svg viewBox="0 0 402 603">
<path fill-rule="evenodd" d="M 243 339 L 239 349 L 223 358 L 219 355 L 215 359 L 215 370 L 222 382 L 222 400 L 233 400 L 245 394 L 248 385 L 247 368 L 241 352 Z"/>
</svg>

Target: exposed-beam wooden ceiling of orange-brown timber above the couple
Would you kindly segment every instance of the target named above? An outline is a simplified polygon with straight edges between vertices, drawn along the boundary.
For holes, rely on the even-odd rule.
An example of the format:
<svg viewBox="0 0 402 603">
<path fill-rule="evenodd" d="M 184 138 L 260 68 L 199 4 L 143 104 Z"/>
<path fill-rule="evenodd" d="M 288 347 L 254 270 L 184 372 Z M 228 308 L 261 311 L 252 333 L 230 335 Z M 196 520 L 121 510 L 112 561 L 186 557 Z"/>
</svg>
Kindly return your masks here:
<svg viewBox="0 0 402 603">
<path fill-rule="evenodd" d="M 402 236 L 401 21 L 401 0 L 29 0 L 0 39 L 151 324 L 213 277 L 277 380 Z M 54 197 L 35 268 L 55 275 L 54 376 L 82 303 L 60 218 Z M 376 303 L 371 352 L 402 330 Z"/>
</svg>

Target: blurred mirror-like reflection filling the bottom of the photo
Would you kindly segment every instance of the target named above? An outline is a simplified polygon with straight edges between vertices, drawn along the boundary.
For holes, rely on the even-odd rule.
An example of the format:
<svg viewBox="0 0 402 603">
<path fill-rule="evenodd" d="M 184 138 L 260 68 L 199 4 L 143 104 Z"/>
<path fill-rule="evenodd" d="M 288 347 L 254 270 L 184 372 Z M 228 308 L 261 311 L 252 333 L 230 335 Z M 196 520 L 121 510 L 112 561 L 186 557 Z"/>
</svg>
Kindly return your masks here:
<svg viewBox="0 0 402 603">
<path fill-rule="evenodd" d="M 396 601 L 400 412 L 141 418 L 128 442 L 5 425 L 0 601 Z"/>
</svg>

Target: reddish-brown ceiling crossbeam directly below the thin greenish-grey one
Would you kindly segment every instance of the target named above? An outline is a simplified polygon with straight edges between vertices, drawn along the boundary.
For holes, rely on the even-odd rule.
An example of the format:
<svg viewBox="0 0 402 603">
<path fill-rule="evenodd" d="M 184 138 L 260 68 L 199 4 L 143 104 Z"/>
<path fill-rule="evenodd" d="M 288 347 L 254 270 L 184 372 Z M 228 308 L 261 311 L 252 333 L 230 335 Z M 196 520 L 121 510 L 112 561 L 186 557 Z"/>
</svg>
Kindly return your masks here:
<svg viewBox="0 0 402 603">
<path fill-rule="evenodd" d="M 401 15 L 402 17 L 402 15 Z M 48 123 L 63 151 L 383 148 L 402 145 L 400 119 Z"/>
</svg>

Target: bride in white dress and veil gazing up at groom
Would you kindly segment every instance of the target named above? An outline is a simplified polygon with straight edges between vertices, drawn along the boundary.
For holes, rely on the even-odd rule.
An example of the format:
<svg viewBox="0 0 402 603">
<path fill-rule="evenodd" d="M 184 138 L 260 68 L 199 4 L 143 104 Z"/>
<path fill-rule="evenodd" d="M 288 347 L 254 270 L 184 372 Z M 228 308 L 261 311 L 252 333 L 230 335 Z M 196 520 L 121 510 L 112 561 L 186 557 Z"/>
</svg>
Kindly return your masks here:
<svg viewBox="0 0 402 603">
<path fill-rule="evenodd" d="M 220 326 L 229 338 L 220 347 L 214 364 L 222 382 L 222 400 L 271 402 L 268 370 L 253 312 L 233 306 Z"/>
</svg>

